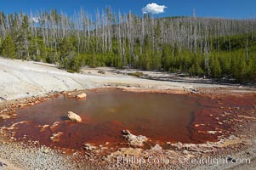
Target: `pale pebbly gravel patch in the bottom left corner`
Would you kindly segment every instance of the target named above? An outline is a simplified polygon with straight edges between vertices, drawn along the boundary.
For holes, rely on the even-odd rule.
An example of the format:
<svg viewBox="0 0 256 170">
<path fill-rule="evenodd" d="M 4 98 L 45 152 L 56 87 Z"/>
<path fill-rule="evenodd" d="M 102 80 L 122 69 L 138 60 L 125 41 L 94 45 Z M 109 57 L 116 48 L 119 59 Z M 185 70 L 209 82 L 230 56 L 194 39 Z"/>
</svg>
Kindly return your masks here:
<svg viewBox="0 0 256 170">
<path fill-rule="evenodd" d="M 71 161 L 72 156 L 65 156 L 45 146 L 40 148 L 15 144 L 2 143 L 0 145 L 0 169 L 79 169 L 78 163 Z M 8 161 L 6 161 L 8 160 Z M 86 169 L 82 166 L 82 169 Z"/>
</svg>

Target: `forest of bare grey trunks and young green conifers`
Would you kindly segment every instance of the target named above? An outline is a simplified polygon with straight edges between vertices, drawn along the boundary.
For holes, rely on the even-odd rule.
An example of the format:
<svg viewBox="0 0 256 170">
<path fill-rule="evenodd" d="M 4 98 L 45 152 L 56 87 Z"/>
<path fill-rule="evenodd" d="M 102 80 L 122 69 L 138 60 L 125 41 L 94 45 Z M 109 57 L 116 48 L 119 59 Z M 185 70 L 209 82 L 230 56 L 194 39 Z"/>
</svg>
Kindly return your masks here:
<svg viewBox="0 0 256 170">
<path fill-rule="evenodd" d="M 0 53 L 11 59 L 162 70 L 256 82 L 256 20 L 138 16 L 105 8 L 0 13 Z"/>
</svg>

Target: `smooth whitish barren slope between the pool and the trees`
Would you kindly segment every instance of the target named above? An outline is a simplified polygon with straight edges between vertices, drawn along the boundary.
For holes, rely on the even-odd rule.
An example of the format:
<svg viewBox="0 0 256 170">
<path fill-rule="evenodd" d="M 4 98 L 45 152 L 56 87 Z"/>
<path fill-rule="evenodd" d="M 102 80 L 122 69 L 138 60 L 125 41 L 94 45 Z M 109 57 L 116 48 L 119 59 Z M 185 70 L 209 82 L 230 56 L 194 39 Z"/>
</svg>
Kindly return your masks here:
<svg viewBox="0 0 256 170">
<path fill-rule="evenodd" d="M 55 65 L 0 58 L 0 97 L 1 100 L 20 99 L 44 95 L 50 92 L 72 91 L 84 88 L 102 88 L 108 86 L 129 86 L 139 88 L 162 88 L 183 90 L 190 88 L 220 88 L 222 85 L 166 82 L 140 79 L 137 77 L 117 74 L 111 68 L 82 69 L 80 73 L 68 73 L 55 68 Z M 120 71 L 121 73 L 124 71 Z M 145 71 L 147 72 L 147 71 Z M 151 73 L 156 76 L 166 76 L 162 73 Z"/>
</svg>

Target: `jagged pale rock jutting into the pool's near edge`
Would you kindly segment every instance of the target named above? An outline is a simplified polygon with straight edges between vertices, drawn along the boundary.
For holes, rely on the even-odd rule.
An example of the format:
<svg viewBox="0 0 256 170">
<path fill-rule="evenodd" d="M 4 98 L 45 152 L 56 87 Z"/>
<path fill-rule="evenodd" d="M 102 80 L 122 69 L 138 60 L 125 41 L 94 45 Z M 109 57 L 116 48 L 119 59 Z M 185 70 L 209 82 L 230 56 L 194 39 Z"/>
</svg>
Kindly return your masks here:
<svg viewBox="0 0 256 170">
<path fill-rule="evenodd" d="M 144 142 L 146 142 L 148 139 L 145 136 L 139 135 L 136 136 L 128 130 L 122 130 L 123 137 L 128 140 L 128 144 L 131 146 L 143 146 Z"/>
</svg>

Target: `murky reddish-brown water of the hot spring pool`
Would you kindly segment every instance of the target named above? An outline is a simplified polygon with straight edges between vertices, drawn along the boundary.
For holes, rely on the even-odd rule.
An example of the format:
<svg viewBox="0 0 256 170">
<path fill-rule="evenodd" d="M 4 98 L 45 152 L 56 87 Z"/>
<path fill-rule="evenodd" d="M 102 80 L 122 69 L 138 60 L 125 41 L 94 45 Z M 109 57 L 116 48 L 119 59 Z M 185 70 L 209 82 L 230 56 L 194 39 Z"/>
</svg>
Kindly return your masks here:
<svg viewBox="0 0 256 170">
<path fill-rule="evenodd" d="M 17 110 L 17 118 L 4 122 L 19 124 L 15 138 L 39 140 L 40 144 L 78 149 L 83 143 L 123 144 L 122 130 L 144 135 L 153 141 L 193 143 L 190 124 L 193 112 L 200 109 L 197 98 L 183 94 L 123 92 L 120 89 L 86 91 L 86 99 L 60 95 Z M 82 122 L 67 121 L 67 112 L 82 117 Z M 54 122 L 58 126 L 50 128 Z M 45 131 L 41 128 L 48 125 Z M 50 140 L 62 132 L 59 142 Z"/>
</svg>

